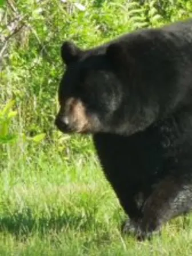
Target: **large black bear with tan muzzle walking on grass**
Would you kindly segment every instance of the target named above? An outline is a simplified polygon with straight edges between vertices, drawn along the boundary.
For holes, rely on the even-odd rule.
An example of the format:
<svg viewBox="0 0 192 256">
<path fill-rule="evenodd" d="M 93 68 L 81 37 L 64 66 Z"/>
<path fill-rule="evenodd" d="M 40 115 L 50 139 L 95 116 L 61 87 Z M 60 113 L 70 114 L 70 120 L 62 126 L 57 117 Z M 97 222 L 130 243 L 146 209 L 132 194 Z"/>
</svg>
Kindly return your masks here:
<svg viewBox="0 0 192 256">
<path fill-rule="evenodd" d="M 192 209 L 192 20 L 122 35 L 93 49 L 61 47 L 66 71 L 55 124 L 91 133 L 129 219 L 150 238 Z"/>
</svg>

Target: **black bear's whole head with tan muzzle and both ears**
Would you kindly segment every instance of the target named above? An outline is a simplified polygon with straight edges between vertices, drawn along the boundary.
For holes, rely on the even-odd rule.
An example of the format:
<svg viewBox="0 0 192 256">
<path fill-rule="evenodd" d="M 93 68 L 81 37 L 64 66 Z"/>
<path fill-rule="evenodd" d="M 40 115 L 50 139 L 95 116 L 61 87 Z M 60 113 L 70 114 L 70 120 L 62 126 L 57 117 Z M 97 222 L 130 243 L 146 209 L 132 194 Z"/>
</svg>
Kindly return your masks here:
<svg viewBox="0 0 192 256">
<path fill-rule="evenodd" d="M 91 50 L 63 43 L 66 70 L 55 120 L 59 130 L 130 135 L 150 125 L 154 112 L 146 100 L 148 91 L 139 93 L 141 78 L 131 55 L 126 42 L 113 41 Z"/>
</svg>

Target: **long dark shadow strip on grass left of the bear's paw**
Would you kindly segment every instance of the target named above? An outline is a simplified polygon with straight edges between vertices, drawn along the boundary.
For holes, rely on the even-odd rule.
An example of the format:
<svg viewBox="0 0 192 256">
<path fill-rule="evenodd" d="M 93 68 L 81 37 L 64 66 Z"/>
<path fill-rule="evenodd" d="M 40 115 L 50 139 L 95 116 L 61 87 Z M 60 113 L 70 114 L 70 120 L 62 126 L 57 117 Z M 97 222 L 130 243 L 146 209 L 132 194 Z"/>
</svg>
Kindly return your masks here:
<svg viewBox="0 0 192 256">
<path fill-rule="evenodd" d="M 64 212 L 57 215 L 54 212 L 43 216 L 35 216 L 31 209 L 25 209 L 19 213 L 15 211 L 9 215 L 0 215 L 0 232 L 9 232 L 16 238 L 22 236 L 28 237 L 30 234 L 45 235 L 54 231 L 54 233 L 66 232 L 68 230 L 88 231 L 90 229 L 106 229 L 105 224 L 96 220 L 94 214 L 78 214 L 73 212 Z"/>
</svg>

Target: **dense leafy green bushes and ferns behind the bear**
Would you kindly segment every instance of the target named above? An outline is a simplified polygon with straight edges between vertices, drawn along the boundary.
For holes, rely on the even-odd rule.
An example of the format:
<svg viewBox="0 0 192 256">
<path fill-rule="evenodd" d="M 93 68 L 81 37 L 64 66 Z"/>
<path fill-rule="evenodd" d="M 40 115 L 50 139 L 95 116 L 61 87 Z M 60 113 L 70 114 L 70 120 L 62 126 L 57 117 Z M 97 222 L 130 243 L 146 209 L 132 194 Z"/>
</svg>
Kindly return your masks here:
<svg viewBox="0 0 192 256">
<path fill-rule="evenodd" d="M 2 3 L 0 102 L 5 105 L 14 99 L 18 113 L 14 112 L 10 134 L 31 137 L 45 133 L 39 149 L 49 145 L 58 153 L 65 151 L 65 155 L 69 150 L 89 154 L 92 146 L 89 138 L 63 137 L 55 130 L 57 87 L 63 72 L 59 55 L 62 41 L 73 39 L 79 46 L 91 47 L 127 31 L 187 18 L 192 11 L 190 0 Z"/>
</svg>

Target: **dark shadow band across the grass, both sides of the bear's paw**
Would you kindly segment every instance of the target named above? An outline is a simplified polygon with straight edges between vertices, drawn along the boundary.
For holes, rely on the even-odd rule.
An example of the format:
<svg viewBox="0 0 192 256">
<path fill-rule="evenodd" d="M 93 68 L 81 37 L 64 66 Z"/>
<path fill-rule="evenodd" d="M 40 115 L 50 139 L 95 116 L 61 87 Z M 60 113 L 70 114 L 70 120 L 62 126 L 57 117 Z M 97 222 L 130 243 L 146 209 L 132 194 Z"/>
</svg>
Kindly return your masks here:
<svg viewBox="0 0 192 256">
<path fill-rule="evenodd" d="M 116 213 L 115 219 L 117 221 L 115 226 L 117 225 L 116 227 L 120 229 L 122 216 Z M 191 215 L 186 214 L 169 221 L 169 223 L 173 223 L 179 230 L 188 229 L 191 225 L 191 220 Z M 55 211 L 55 209 L 50 209 L 49 214 L 42 212 L 35 215 L 32 209 L 26 208 L 23 211 L 15 210 L 11 214 L 0 215 L 0 232 L 8 232 L 15 235 L 16 238 L 28 237 L 31 234 L 37 233 L 43 236 L 52 231 L 54 233 L 66 233 L 69 230 L 107 231 L 106 226 L 107 223 L 103 222 L 102 219 L 98 219 L 97 212 L 95 213 L 94 210 L 87 211 L 87 213 L 83 212 L 83 214 L 68 210 L 61 214 Z"/>
</svg>

